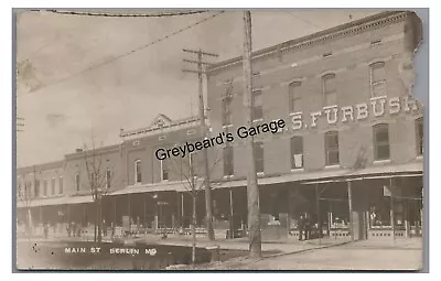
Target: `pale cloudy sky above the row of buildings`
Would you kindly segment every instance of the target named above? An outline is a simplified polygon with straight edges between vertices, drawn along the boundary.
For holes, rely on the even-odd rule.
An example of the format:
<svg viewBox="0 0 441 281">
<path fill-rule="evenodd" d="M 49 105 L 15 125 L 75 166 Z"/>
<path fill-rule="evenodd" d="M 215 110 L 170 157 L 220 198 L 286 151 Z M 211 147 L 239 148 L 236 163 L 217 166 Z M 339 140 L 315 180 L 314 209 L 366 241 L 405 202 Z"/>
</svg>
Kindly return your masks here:
<svg viewBox="0 0 441 281">
<path fill-rule="evenodd" d="M 376 12 L 255 11 L 252 50 Z M 92 136 L 101 145 L 119 143 L 121 128 L 147 127 L 158 114 L 171 119 L 196 115 L 197 78 L 182 72 L 187 67 L 183 58 L 193 57 L 182 48 L 219 55 L 207 58 L 211 62 L 240 56 L 243 13 L 226 11 L 160 43 L 140 47 L 216 13 L 166 18 L 20 13 L 17 112 L 24 118 L 24 127 L 17 136 L 18 166 L 62 160 L 89 142 Z"/>
</svg>

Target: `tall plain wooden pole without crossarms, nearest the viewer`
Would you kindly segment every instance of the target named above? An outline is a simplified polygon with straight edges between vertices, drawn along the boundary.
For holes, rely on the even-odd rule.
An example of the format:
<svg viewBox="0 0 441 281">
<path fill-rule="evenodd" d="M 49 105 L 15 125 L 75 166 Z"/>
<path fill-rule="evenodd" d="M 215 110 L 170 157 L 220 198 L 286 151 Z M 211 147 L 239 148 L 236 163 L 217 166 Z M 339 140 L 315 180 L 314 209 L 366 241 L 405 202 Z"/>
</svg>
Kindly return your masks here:
<svg viewBox="0 0 441 281">
<path fill-rule="evenodd" d="M 251 80 L 251 12 L 244 12 L 244 107 L 247 128 L 252 126 L 252 80 Z M 254 137 L 246 139 L 247 197 L 248 197 L 248 238 L 250 258 L 261 257 L 259 186 L 257 185 Z"/>
</svg>

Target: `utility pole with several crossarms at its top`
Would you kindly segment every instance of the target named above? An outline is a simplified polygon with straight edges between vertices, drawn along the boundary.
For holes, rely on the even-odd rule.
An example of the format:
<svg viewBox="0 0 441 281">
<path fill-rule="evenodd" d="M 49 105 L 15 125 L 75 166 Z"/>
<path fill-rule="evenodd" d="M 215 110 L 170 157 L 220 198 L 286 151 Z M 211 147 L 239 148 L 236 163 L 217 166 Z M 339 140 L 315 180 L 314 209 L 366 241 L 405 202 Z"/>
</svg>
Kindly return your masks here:
<svg viewBox="0 0 441 281">
<path fill-rule="evenodd" d="M 197 65 L 197 71 L 192 71 L 192 69 L 183 69 L 185 73 L 197 73 L 197 78 L 198 78 L 198 99 L 200 99 L 200 119 L 201 119 L 201 134 L 203 139 L 207 138 L 207 128 L 205 125 L 205 106 L 204 106 L 204 94 L 203 94 L 203 74 L 204 67 L 208 65 L 208 63 L 203 62 L 203 56 L 212 56 L 212 57 L 217 57 L 218 55 L 212 54 L 212 53 L 206 53 L 202 52 L 201 48 L 198 51 L 193 51 L 193 50 L 183 50 L 185 53 L 190 53 L 193 55 L 197 55 L 197 61 L 191 61 L 191 60 L 184 60 L 185 63 L 191 63 L 191 64 L 196 64 Z M 203 158 L 204 158 L 204 174 L 205 174 L 205 209 L 206 209 L 206 228 L 208 233 L 208 239 L 214 240 L 214 228 L 213 228 L 213 209 L 212 209 L 212 187 L 209 183 L 209 167 L 208 167 L 208 151 L 206 149 L 203 150 Z"/>
</svg>

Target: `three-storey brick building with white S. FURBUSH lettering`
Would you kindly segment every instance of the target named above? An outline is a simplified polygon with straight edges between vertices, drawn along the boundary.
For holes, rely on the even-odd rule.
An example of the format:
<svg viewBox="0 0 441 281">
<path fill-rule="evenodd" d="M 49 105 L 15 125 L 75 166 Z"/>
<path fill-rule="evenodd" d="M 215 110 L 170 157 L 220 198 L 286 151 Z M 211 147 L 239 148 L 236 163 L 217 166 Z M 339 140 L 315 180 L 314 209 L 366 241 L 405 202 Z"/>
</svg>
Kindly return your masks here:
<svg viewBox="0 0 441 281">
<path fill-rule="evenodd" d="M 287 123 L 255 136 L 263 239 L 298 236 L 300 215 L 315 237 L 422 235 L 423 110 L 407 89 L 420 40 L 415 13 L 383 12 L 254 52 L 254 123 Z M 236 133 L 241 57 L 207 85 L 213 131 Z M 246 193 L 244 142 L 224 150 L 218 173 Z"/>
</svg>

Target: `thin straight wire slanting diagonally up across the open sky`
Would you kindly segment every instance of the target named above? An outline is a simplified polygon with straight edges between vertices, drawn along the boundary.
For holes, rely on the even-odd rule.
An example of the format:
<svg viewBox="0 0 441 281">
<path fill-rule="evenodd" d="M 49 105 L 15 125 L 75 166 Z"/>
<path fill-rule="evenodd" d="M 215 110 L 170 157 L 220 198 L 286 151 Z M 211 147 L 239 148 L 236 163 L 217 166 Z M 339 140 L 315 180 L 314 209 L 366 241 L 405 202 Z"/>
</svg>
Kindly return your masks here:
<svg viewBox="0 0 441 281">
<path fill-rule="evenodd" d="M 204 23 L 204 22 L 206 22 L 206 21 L 208 21 L 208 20 L 211 20 L 211 19 L 214 19 L 214 18 L 218 17 L 218 15 L 222 14 L 222 13 L 224 13 L 224 11 L 220 11 L 220 12 L 218 12 L 218 13 L 216 13 L 216 14 L 213 14 L 213 15 L 211 15 L 211 17 L 207 17 L 207 18 L 205 18 L 205 19 L 198 21 L 198 22 L 195 22 L 195 23 L 193 23 L 193 24 L 191 24 L 191 25 L 187 25 L 187 26 L 185 26 L 185 28 L 183 28 L 183 29 L 180 29 L 180 30 L 178 30 L 178 31 L 175 31 L 175 32 L 173 32 L 173 33 L 170 33 L 170 34 L 166 35 L 166 36 L 161 37 L 161 39 L 154 40 L 154 41 L 152 41 L 152 42 L 150 42 L 150 43 L 148 43 L 148 44 L 146 44 L 146 45 L 142 45 L 142 46 L 140 46 L 140 47 L 137 47 L 137 48 L 135 48 L 135 50 L 131 50 L 130 52 L 127 52 L 127 53 L 123 53 L 123 54 L 121 54 L 121 55 L 115 56 L 115 57 L 109 58 L 109 60 L 107 60 L 107 61 L 105 61 L 105 62 L 103 62 L 103 63 L 98 63 L 98 64 L 92 65 L 92 66 L 89 66 L 89 67 L 87 67 L 87 68 L 85 68 L 85 69 L 83 69 L 83 71 L 80 71 L 80 72 L 74 73 L 74 74 L 68 75 L 68 76 L 66 76 L 66 77 L 64 77 L 64 78 L 61 78 L 61 79 L 58 79 L 58 80 L 55 80 L 54 83 L 46 84 L 46 85 L 42 85 L 39 89 L 36 89 L 36 90 L 34 90 L 34 91 L 29 91 L 29 93 L 26 93 L 26 94 L 22 94 L 21 96 L 24 96 L 24 95 L 29 95 L 29 94 L 33 94 L 33 93 L 40 91 L 41 89 L 44 89 L 44 88 L 47 88 L 47 87 L 51 87 L 51 86 L 61 84 L 61 83 L 63 83 L 63 82 L 65 82 L 65 80 L 68 80 L 68 79 L 71 79 L 71 78 L 74 78 L 74 77 L 76 77 L 76 76 L 78 76 L 78 75 L 82 75 L 82 74 L 87 73 L 87 72 L 89 72 L 89 71 L 93 71 L 93 69 L 95 69 L 95 68 L 101 67 L 101 66 L 104 66 L 104 65 L 110 64 L 110 63 L 112 63 L 112 62 L 115 62 L 115 61 L 118 61 L 118 60 L 120 60 L 120 58 L 122 58 L 122 57 L 126 57 L 126 56 L 128 56 L 128 55 L 131 55 L 131 54 L 133 54 L 133 53 L 136 53 L 136 52 L 139 52 L 139 51 L 143 50 L 143 48 L 147 48 L 147 47 L 149 47 L 149 46 L 152 46 L 152 45 L 154 45 L 154 44 L 158 44 L 158 43 L 160 43 L 160 42 L 162 42 L 162 41 L 164 41 L 164 40 L 166 40 L 166 39 L 170 39 L 170 37 L 176 35 L 176 34 L 179 34 L 179 33 L 182 33 L 182 32 L 184 32 L 184 31 L 186 31 L 186 30 L 193 29 L 193 28 L 195 28 L 196 25 L 198 25 L 198 24 L 201 24 L 201 23 Z"/>
</svg>

